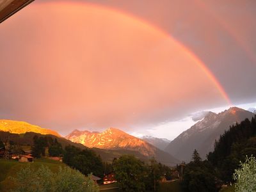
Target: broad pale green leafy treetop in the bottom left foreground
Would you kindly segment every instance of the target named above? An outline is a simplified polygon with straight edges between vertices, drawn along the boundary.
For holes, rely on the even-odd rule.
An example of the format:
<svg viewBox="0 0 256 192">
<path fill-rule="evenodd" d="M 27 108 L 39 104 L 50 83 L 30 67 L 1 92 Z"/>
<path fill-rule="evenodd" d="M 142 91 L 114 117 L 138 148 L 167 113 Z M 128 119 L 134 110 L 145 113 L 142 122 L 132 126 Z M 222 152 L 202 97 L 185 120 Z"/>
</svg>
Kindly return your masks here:
<svg viewBox="0 0 256 192">
<path fill-rule="evenodd" d="M 12 177 L 12 180 L 14 192 L 99 191 L 97 184 L 90 177 L 84 177 L 82 173 L 68 166 L 60 167 L 57 173 L 53 173 L 47 166 L 42 165 L 38 170 L 34 170 L 28 164 L 17 173 L 17 177 Z"/>
</svg>

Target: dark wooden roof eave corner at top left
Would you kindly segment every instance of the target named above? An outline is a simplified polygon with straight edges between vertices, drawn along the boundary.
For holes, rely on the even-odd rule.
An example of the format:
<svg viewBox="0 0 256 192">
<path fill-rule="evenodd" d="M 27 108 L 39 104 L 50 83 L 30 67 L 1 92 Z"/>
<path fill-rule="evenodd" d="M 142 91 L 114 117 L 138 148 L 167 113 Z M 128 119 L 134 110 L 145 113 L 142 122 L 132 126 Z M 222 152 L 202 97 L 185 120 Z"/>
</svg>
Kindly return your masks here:
<svg viewBox="0 0 256 192">
<path fill-rule="evenodd" d="M 34 0 L 6 0 L 0 3 L 0 23 Z"/>
</svg>

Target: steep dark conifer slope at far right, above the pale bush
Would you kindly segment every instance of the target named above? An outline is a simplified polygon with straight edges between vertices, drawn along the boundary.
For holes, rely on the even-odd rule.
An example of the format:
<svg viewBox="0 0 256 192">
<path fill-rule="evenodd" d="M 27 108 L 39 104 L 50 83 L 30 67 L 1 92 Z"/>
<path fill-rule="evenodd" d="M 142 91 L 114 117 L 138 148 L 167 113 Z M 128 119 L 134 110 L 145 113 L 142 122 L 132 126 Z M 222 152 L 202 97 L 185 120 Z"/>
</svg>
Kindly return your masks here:
<svg viewBox="0 0 256 192">
<path fill-rule="evenodd" d="M 220 136 L 207 159 L 211 162 L 221 180 L 233 181 L 234 170 L 239 168 L 239 162 L 245 161 L 247 156 L 256 156 L 256 116 L 252 120 L 247 118 L 240 124 L 232 125 L 228 131 Z"/>
</svg>

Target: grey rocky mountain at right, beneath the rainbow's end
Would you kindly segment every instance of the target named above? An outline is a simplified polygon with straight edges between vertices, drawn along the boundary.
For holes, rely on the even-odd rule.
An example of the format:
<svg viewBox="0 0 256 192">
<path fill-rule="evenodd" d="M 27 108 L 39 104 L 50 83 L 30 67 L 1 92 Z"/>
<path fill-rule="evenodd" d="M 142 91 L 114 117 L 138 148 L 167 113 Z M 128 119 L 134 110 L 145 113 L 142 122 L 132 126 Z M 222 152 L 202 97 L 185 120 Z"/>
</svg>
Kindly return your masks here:
<svg viewBox="0 0 256 192">
<path fill-rule="evenodd" d="M 241 122 L 245 118 L 252 118 L 254 115 L 240 108 L 230 108 L 218 114 L 209 112 L 203 120 L 175 138 L 165 151 L 182 161 L 189 162 L 193 150 L 196 149 L 202 159 L 205 159 L 206 155 L 214 149 L 215 140 L 218 140 L 230 125 Z"/>
</svg>

